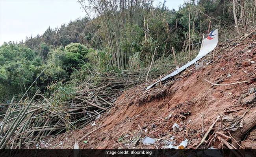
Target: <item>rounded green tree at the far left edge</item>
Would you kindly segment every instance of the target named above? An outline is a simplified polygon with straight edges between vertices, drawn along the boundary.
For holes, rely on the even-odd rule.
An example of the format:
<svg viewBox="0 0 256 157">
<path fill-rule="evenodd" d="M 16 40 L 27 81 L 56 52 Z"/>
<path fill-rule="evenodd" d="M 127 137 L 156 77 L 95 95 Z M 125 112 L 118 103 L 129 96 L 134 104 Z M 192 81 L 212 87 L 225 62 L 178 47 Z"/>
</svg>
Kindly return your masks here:
<svg viewBox="0 0 256 157">
<path fill-rule="evenodd" d="M 0 47 L 0 100 L 11 99 L 14 95 L 26 91 L 39 72 L 40 57 L 23 44 L 5 43 Z"/>
</svg>

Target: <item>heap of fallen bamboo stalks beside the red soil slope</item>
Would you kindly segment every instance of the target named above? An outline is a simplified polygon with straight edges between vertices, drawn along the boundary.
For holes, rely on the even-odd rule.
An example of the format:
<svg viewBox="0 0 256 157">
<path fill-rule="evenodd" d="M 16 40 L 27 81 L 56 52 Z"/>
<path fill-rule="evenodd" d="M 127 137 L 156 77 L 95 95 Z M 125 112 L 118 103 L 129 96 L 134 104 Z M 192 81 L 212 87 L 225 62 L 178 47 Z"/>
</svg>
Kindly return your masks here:
<svg viewBox="0 0 256 157">
<path fill-rule="evenodd" d="M 152 65 L 151 68 L 153 67 L 155 66 Z M 7 140 L 10 137 L 11 140 L 7 142 L 13 143 L 11 145 L 13 148 L 19 148 L 23 144 L 33 143 L 46 135 L 57 135 L 70 127 L 70 125 L 66 125 L 65 123 L 67 117 L 71 125 L 76 126 L 76 128 L 82 128 L 98 115 L 93 114 L 91 110 L 95 110 L 100 114 L 105 113 L 106 110 L 111 108 L 115 100 L 122 95 L 122 92 L 126 89 L 126 84 L 127 88 L 130 88 L 143 82 L 145 79 L 144 72 L 147 72 L 147 68 L 134 71 L 130 74 L 129 70 L 122 71 L 121 73 L 109 73 L 107 77 L 105 75 L 101 77 L 101 82 L 97 84 L 94 84 L 93 79 L 89 79 L 87 80 L 85 89 L 81 86 L 82 90 L 75 92 L 76 97 L 72 99 L 72 102 L 71 100 L 61 102 L 61 107 L 52 105 L 51 101 L 43 95 L 41 95 L 41 99 L 32 100 L 33 102 L 27 110 L 26 104 L 29 103 L 15 104 L 11 102 L 11 105 L 13 105 L 10 111 L 11 117 L 6 120 L 6 124 L 13 126 L 10 127 L 7 133 L 8 135 L 5 135 L 4 139 Z M 137 77 L 138 75 L 139 79 Z M 141 77 L 141 75 L 143 76 Z M 126 78 L 128 76 L 129 80 L 127 82 Z M 37 103 L 38 101 L 41 102 Z M 86 113 L 90 113 L 91 117 L 85 115 Z M 1 116 L 5 117 L 7 115 L 4 114 Z M 13 116 L 15 117 L 12 118 Z M 81 116 L 82 118 L 80 118 Z M 20 130 L 13 132 L 17 130 L 15 129 L 16 125 Z"/>
</svg>

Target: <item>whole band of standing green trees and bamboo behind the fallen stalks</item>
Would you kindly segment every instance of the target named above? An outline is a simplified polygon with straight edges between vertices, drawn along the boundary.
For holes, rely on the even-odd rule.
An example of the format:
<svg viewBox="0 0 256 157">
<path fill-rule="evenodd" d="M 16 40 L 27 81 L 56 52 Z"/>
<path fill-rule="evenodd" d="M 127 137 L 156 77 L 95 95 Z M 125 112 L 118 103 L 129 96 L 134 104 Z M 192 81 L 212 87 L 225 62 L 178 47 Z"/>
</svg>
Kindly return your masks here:
<svg viewBox="0 0 256 157">
<path fill-rule="evenodd" d="M 52 99 L 56 95 L 54 104 L 58 105 L 72 99 L 73 86 L 92 76 L 100 82 L 110 70 L 119 73 L 148 67 L 156 47 L 154 61 L 171 67 L 174 47 L 178 63 L 184 64 L 198 52 L 200 45 L 195 43 L 207 34 L 210 21 L 211 30 L 228 27 L 221 29 L 220 40 L 234 36 L 229 27 L 234 25 L 232 1 L 187 0 L 178 11 L 169 10 L 164 3 L 152 7 L 151 0 L 88 1 L 98 15 L 92 21 L 78 18 L 60 28 L 49 27 L 43 35 L 27 37 L 24 43 L 0 46 L 0 101 L 22 95 L 43 69 L 30 92 L 37 87 L 48 90 Z M 254 22 L 252 3 L 245 2 L 250 23 Z M 240 6 L 236 9 L 239 18 Z M 161 72 L 160 68 L 151 71 Z"/>
</svg>

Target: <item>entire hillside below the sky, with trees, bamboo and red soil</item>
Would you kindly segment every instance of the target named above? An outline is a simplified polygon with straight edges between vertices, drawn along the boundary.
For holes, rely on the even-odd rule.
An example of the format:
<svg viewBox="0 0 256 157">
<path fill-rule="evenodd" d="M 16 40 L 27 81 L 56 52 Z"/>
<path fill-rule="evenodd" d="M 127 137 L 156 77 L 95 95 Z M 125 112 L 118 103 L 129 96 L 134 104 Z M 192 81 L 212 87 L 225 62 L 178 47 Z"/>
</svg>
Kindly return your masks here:
<svg viewBox="0 0 256 157">
<path fill-rule="evenodd" d="M 256 1 L 155 2 L 4 42 L 0 149 L 256 148 Z"/>
</svg>

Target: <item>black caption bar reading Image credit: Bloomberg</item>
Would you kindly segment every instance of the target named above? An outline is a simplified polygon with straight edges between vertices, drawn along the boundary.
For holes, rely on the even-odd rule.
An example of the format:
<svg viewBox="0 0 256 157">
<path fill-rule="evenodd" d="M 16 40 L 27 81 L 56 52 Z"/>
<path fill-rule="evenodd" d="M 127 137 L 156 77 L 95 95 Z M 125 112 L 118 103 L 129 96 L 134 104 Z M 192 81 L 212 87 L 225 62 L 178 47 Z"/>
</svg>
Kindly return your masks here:
<svg viewBox="0 0 256 157">
<path fill-rule="evenodd" d="M 0 157 L 255 157 L 256 150 L 0 150 Z"/>
</svg>

